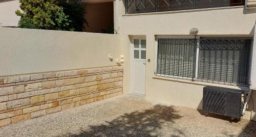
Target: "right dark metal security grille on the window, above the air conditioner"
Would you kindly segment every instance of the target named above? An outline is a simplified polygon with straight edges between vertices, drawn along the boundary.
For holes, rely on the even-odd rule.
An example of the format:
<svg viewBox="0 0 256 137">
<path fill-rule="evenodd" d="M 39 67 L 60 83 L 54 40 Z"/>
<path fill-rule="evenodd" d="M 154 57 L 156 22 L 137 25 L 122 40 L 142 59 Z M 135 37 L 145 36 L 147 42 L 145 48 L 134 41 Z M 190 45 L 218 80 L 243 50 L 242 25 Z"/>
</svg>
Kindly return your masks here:
<svg viewBox="0 0 256 137">
<path fill-rule="evenodd" d="M 248 85 L 251 40 L 200 39 L 200 81 Z"/>
</svg>

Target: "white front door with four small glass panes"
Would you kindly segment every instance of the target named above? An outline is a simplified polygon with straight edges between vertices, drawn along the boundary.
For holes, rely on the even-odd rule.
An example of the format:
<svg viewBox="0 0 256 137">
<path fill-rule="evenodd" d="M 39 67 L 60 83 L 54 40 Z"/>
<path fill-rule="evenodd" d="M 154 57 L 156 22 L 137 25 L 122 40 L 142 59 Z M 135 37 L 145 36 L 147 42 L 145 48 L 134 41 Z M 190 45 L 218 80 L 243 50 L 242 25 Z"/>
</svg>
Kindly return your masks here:
<svg viewBox="0 0 256 137">
<path fill-rule="evenodd" d="M 132 93 L 145 95 L 146 40 L 132 40 Z"/>
</svg>

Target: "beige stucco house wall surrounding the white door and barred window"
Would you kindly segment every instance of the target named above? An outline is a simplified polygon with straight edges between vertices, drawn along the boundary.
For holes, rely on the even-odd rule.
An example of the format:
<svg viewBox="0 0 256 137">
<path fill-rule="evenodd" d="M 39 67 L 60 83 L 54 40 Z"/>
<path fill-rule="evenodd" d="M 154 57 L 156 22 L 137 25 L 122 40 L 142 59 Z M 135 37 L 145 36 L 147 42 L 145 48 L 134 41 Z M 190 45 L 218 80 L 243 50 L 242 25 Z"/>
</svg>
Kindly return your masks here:
<svg viewBox="0 0 256 137">
<path fill-rule="evenodd" d="M 243 6 L 134 15 L 124 15 L 123 4 L 120 8 L 120 35 L 123 54 L 126 57 L 123 91 L 131 93 L 130 40 L 133 36 L 144 36 L 147 42 L 146 59 L 151 59 L 151 62 L 146 62 L 145 97 L 161 103 L 201 109 L 203 87 L 207 84 L 154 78 L 156 36 L 188 36 L 191 28 L 198 28 L 200 36 L 253 37 L 254 34 L 256 10 L 244 10 Z M 256 112 L 256 91 L 253 91 L 252 97 L 255 100 L 254 113 L 250 115 L 247 112 L 244 117 L 246 119 L 251 116 L 253 118 Z M 249 103 L 251 105 L 251 102 Z M 253 120 L 256 120 L 256 116 Z"/>
</svg>

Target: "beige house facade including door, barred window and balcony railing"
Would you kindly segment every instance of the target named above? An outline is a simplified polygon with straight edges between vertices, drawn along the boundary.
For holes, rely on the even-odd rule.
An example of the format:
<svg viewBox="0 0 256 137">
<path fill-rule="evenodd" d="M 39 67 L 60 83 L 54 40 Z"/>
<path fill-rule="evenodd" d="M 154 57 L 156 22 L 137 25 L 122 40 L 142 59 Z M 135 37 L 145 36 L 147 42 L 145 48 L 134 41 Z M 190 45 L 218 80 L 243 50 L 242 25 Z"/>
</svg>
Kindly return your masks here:
<svg viewBox="0 0 256 137">
<path fill-rule="evenodd" d="M 256 120 L 253 0 L 83 2 L 113 3 L 124 94 L 202 109 L 205 86 L 252 90 L 244 118 Z"/>
</svg>

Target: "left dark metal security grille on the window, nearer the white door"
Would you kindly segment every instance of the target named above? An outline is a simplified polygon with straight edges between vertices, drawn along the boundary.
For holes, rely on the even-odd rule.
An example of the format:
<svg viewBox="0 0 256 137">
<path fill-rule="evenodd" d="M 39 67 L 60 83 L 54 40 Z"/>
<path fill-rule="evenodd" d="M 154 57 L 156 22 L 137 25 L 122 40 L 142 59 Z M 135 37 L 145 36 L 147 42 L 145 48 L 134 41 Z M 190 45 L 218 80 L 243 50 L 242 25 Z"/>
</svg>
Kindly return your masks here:
<svg viewBox="0 0 256 137">
<path fill-rule="evenodd" d="M 157 74 L 165 77 L 193 78 L 196 39 L 158 39 Z"/>
</svg>

